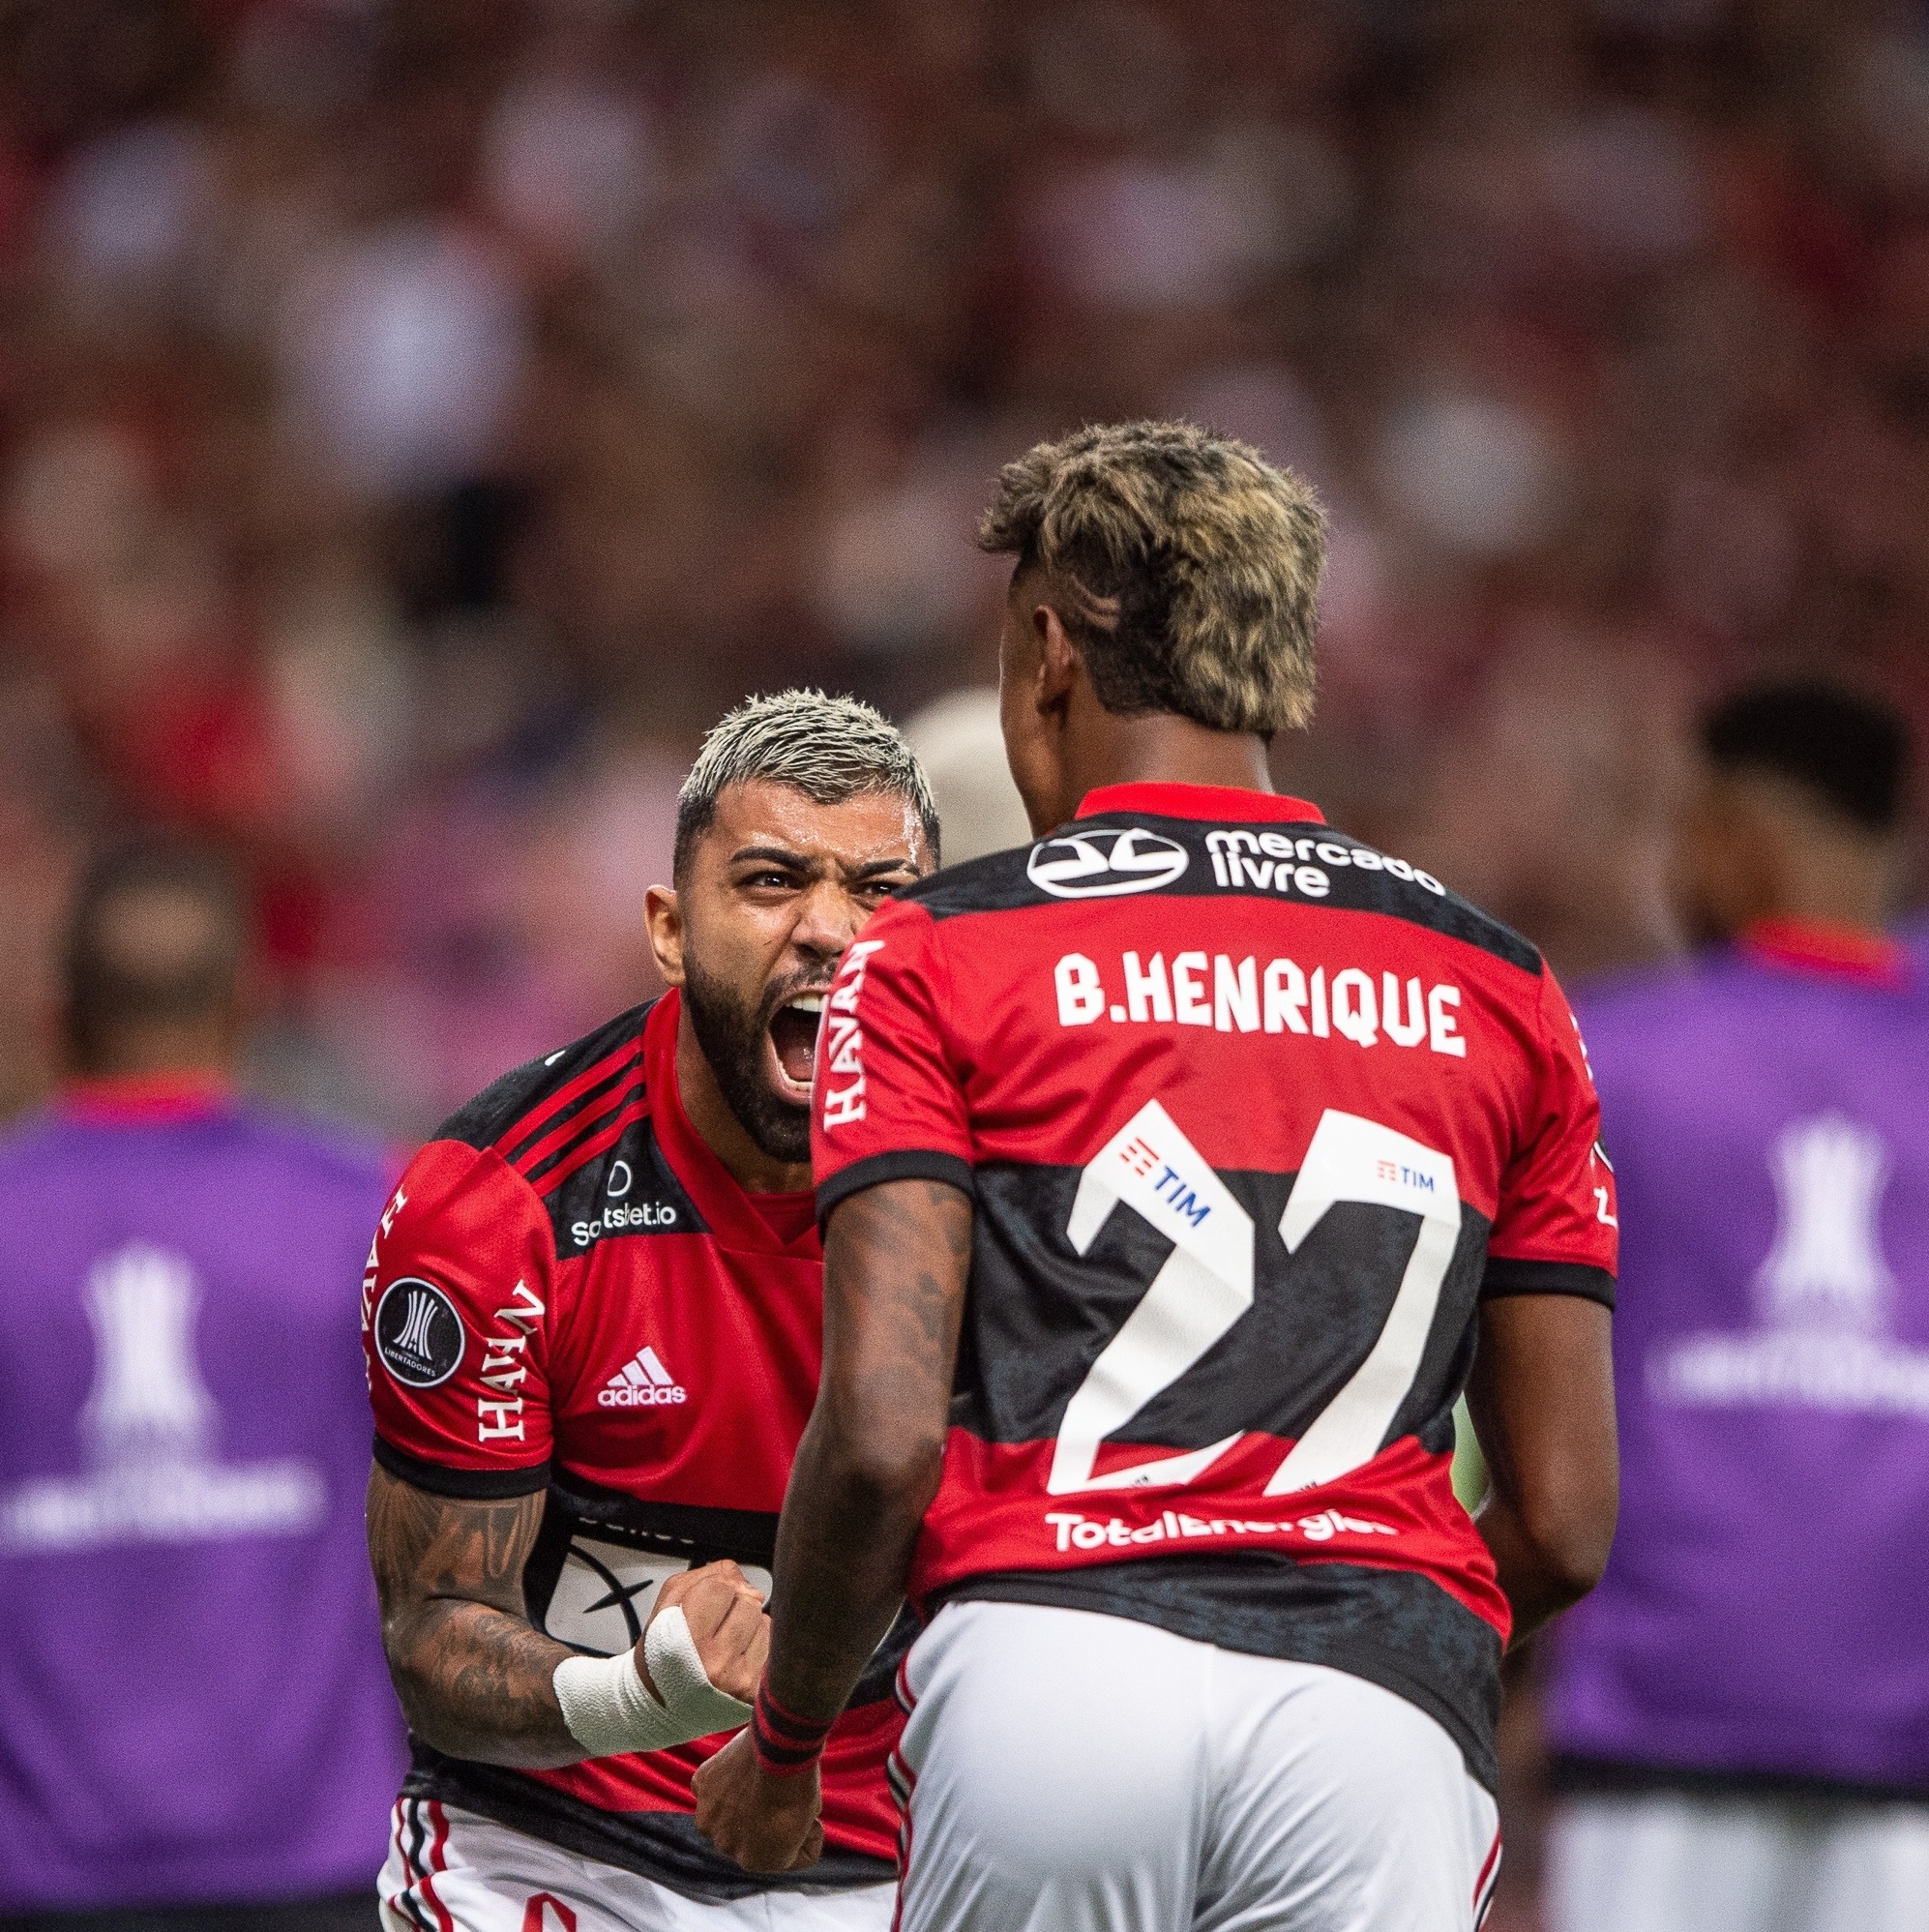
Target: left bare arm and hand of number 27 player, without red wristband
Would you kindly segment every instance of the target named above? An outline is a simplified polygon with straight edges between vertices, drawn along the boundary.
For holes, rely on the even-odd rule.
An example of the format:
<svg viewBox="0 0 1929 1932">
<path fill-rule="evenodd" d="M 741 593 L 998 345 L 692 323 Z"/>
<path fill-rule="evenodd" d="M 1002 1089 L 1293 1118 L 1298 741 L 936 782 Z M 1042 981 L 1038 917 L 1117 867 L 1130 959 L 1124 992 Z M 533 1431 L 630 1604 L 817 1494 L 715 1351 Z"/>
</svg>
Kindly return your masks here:
<svg viewBox="0 0 1929 1932">
<path fill-rule="evenodd" d="M 823 1240 L 823 1378 L 777 1526 L 771 1696 L 845 1708 L 891 1627 L 943 1470 L 972 1206 L 937 1180 L 841 1202 Z M 698 1830 L 750 1870 L 818 1855 L 816 1777 L 767 1777 L 744 1733 L 698 1774 Z"/>
</svg>

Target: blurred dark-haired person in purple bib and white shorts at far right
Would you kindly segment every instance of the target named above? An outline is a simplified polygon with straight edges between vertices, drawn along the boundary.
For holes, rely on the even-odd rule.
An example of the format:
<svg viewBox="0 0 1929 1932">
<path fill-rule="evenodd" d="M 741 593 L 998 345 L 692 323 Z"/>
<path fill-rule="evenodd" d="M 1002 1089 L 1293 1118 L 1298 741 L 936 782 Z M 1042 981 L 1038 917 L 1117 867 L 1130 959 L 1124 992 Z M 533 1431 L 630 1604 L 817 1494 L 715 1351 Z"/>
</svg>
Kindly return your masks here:
<svg viewBox="0 0 1929 1932">
<path fill-rule="evenodd" d="M 1703 726 L 1682 918 L 1583 1009 L 1622 1202 L 1622 1522 L 1558 1631 L 1554 1932 L 1929 1924 L 1929 995 L 1885 937 L 1908 736 Z"/>
</svg>

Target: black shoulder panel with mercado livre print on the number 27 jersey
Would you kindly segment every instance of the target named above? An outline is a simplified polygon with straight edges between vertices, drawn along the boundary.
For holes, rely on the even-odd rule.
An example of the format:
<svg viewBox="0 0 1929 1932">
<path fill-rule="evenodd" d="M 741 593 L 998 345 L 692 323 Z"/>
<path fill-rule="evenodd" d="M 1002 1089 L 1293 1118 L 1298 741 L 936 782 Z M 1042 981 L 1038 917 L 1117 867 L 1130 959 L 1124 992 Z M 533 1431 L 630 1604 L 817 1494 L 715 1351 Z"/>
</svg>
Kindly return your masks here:
<svg viewBox="0 0 1929 1932">
<path fill-rule="evenodd" d="M 897 896 L 934 920 L 966 912 L 1162 895 L 1285 900 L 1380 912 L 1542 972 L 1540 952 L 1510 925 L 1450 893 L 1430 873 L 1332 825 L 1208 825 L 1106 813 L 1061 825 L 1034 846 L 992 852 L 905 887 Z"/>
</svg>

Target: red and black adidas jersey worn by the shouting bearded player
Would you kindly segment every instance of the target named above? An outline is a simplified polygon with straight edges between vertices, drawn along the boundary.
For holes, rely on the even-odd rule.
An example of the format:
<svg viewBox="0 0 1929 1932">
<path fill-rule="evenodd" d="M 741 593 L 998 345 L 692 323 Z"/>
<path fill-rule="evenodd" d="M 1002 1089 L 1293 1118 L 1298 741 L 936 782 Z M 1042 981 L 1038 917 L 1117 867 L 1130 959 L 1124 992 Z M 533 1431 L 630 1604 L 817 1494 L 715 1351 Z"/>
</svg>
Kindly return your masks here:
<svg viewBox="0 0 1929 1932">
<path fill-rule="evenodd" d="M 677 1094 L 678 995 L 499 1080 L 410 1163 L 361 1293 L 375 1461 L 421 1490 L 547 1490 L 524 1575 L 537 1629 L 613 1656 L 665 1577 L 734 1557 L 762 1588 L 823 1352 L 808 1194 L 750 1196 Z M 810 1884 L 891 1878 L 885 1642 L 823 1766 Z M 760 1880 L 690 1822 L 723 1739 L 512 1772 L 417 1741 L 412 1797 L 458 1803 L 694 1895 Z"/>
</svg>

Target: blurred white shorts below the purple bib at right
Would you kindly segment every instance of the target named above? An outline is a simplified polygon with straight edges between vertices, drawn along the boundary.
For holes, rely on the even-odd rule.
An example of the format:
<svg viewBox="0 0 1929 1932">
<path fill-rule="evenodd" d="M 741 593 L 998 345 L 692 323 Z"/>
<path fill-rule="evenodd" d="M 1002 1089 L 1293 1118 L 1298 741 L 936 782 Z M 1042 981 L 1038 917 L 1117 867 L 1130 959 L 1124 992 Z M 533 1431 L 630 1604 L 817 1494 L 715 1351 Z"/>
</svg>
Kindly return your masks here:
<svg viewBox="0 0 1929 1932">
<path fill-rule="evenodd" d="M 1929 1806 L 1569 1799 L 1546 1909 L 1548 1932 L 1929 1932 Z"/>
</svg>

